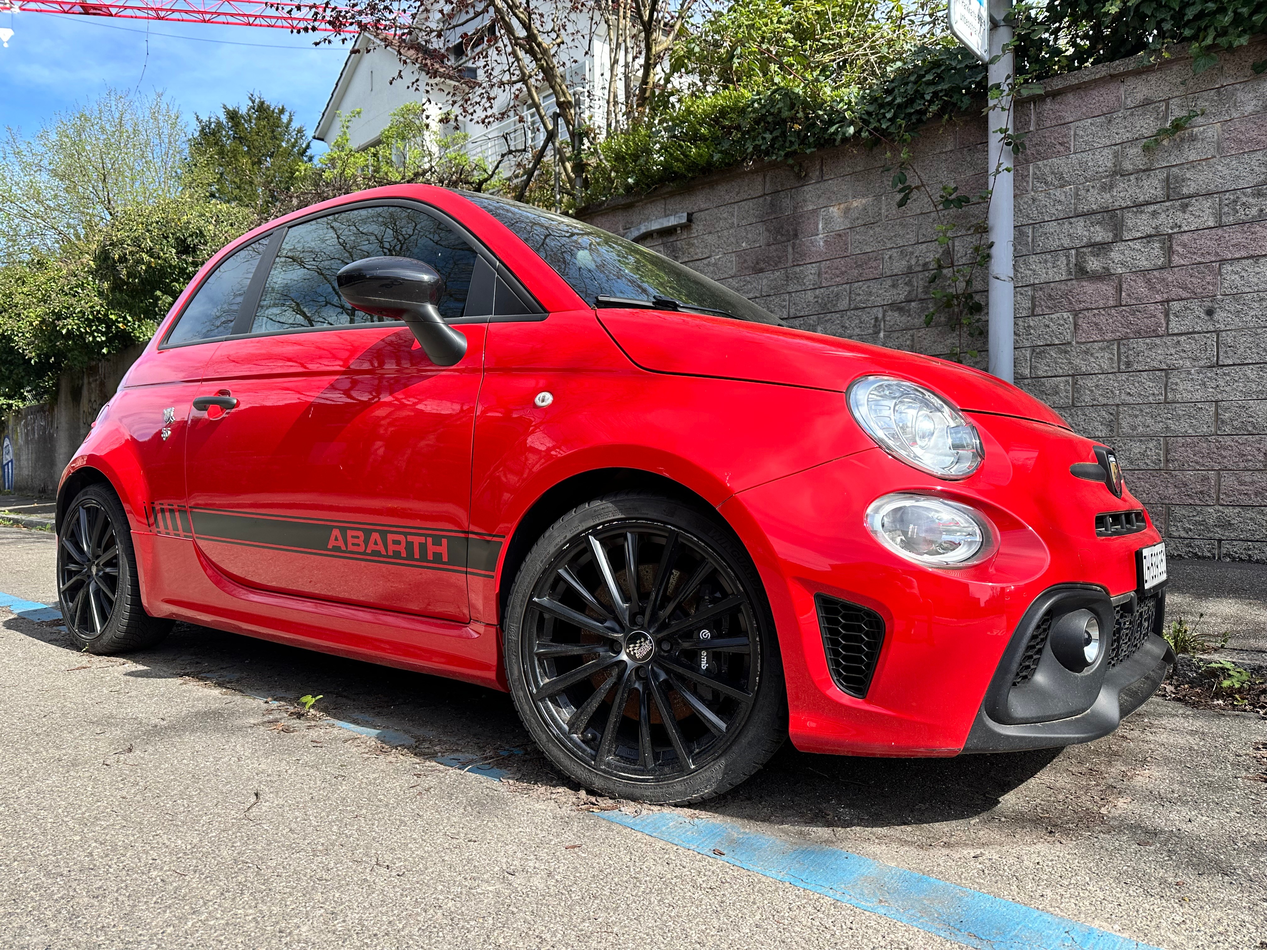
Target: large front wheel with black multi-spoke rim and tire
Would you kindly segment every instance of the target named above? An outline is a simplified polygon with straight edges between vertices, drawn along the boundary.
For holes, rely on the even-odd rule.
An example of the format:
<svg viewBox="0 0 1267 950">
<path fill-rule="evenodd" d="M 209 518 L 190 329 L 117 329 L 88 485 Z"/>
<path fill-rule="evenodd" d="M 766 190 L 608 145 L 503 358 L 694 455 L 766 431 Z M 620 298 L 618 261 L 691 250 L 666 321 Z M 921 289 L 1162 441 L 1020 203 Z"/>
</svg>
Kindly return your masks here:
<svg viewBox="0 0 1267 950">
<path fill-rule="evenodd" d="M 711 798 L 787 737 L 756 569 L 725 527 L 682 502 L 620 493 L 556 521 L 516 578 L 504 646 L 533 740 L 613 798 Z"/>
</svg>

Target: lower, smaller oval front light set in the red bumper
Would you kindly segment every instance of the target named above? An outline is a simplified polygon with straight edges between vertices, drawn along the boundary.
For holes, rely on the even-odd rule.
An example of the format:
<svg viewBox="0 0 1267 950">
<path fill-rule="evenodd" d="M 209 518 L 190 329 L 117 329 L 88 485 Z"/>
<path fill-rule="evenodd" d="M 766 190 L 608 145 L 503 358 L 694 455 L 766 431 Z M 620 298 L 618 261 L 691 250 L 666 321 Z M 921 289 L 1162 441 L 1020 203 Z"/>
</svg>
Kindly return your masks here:
<svg viewBox="0 0 1267 950">
<path fill-rule="evenodd" d="M 927 567 L 967 567 L 990 554 L 986 516 L 931 495 L 877 498 L 867 528 L 884 547 Z"/>
</svg>

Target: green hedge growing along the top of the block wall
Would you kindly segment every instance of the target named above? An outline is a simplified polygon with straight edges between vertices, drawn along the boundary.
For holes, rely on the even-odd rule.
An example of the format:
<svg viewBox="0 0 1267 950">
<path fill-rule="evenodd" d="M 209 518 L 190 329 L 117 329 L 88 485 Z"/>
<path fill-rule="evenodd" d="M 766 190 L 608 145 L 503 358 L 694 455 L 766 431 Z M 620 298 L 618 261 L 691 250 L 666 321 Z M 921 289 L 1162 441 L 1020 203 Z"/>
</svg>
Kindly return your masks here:
<svg viewBox="0 0 1267 950">
<path fill-rule="evenodd" d="M 1017 72 L 1047 77 L 1175 43 L 1191 43 L 1194 71 L 1214 49 L 1242 46 L 1267 29 L 1267 0 L 1052 0 L 1021 8 Z M 865 90 L 829 85 L 760 92 L 689 95 L 601 142 L 589 165 L 587 201 L 646 193 L 758 161 L 789 161 L 846 141 L 875 143 L 979 108 L 986 67 L 958 43 L 917 49 L 888 80 Z"/>
</svg>

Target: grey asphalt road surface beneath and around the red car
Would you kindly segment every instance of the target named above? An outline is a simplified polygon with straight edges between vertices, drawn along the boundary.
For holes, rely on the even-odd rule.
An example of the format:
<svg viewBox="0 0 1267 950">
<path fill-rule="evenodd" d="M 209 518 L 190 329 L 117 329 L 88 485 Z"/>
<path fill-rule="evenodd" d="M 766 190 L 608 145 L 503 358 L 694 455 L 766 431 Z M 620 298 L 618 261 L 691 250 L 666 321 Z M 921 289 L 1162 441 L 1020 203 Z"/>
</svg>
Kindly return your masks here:
<svg viewBox="0 0 1267 950">
<path fill-rule="evenodd" d="M 54 554 L 0 528 L 0 593 L 52 603 Z M 1172 603 L 1261 649 L 1267 569 L 1200 570 Z M 1267 727 L 1245 713 L 1153 699 L 1014 755 L 787 746 L 722 798 L 646 809 L 559 778 L 495 692 L 188 624 L 96 657 L 0 607 L 0 714 L 5 947 L 1267 946 Z M 805 854 L 818 877 L 787 870 Z M 824 883 L 867 861 L 887 870 Z M 949 885 L 1005 930 L 1073 923 L 939 930 Z"/>
</svg>

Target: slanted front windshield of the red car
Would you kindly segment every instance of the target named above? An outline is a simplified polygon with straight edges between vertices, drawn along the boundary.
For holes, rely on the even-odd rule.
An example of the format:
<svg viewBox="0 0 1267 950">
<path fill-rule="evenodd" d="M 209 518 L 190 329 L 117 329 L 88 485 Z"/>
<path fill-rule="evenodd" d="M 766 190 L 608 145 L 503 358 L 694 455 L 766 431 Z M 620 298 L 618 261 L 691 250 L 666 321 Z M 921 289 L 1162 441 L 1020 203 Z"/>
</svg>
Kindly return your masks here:
<svg viewBox="0 0 1267 950">
<path fill-rule="evenodd" d="M 689 267 L 593 224 L 492 195 L 462 193 L 502 224 L 563 277 L 590 307 L 617 300 L 650 305 L 656 298 L 754 323 L 780 323 L 778 317 Z M 672 304 L 668 308 L 672 309 Z"/>
</svg>

